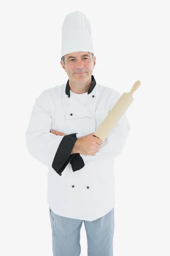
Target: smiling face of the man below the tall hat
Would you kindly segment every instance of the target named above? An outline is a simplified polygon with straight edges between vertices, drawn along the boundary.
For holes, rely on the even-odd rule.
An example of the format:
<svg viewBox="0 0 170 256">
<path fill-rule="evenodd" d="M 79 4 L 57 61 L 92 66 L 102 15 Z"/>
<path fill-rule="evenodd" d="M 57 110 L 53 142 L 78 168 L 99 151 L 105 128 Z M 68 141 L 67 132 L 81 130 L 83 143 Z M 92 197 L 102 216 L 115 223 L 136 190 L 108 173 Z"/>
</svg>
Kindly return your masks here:
<svg viewBox="0 0 170 256">
<path fill-rule="evenodd" d="M 72 52 L 65 55 L 65 65 L 60 61 L 69 79 L 84 83 L 91 79 L 96 64 L 96 57 L 91 52 Z M 82 74 L 81 74 L 82 73 Z"/>
</svg>

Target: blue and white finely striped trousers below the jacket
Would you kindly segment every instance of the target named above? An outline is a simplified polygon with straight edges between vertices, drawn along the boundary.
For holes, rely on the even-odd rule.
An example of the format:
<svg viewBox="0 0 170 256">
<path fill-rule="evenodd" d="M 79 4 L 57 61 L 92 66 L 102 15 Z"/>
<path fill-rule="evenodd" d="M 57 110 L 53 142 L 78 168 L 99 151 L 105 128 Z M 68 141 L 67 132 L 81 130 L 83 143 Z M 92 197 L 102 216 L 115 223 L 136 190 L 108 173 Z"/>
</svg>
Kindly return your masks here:
<svg viewBox="0 0 170 256">
<path fill-rule="evenodd" d="M 55 214 L 49 208 L 53 256 L 80 256 L 82 220 Z M 113 256 L 114 208 L 95 221 L 84 221 L 88 256 Z"/>
</svg>

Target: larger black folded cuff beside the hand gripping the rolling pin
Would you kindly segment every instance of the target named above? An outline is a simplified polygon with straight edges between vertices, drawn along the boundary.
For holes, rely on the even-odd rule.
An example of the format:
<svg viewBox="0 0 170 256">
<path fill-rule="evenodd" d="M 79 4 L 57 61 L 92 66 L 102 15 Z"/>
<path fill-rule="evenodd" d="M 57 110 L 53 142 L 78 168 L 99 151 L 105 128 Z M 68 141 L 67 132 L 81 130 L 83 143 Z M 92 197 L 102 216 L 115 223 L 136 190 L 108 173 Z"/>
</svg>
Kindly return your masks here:
<svg viewBox="0 0 170 256">
<path fill-rule="evenodd" d="M 65 167 L 73 159 L 75 154 L 71 154 L 74 144 L 78 140 L 76 134 L 65 135 L 57 148 L 52 168 L 61 176 Z"/>
</svg>

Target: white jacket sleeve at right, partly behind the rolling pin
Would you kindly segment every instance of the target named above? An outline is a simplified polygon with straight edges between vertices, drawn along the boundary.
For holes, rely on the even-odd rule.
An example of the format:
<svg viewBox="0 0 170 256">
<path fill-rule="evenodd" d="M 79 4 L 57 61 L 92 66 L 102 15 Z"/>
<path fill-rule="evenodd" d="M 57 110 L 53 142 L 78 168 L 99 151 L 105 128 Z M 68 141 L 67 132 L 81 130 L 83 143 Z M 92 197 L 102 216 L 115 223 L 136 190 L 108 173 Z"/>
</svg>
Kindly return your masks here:
<svg viewBox="0 0 170 256">
<path fill-rule="evenodd" d="M 110 103 L 110 108 L 108 113 L 111 111 L 113 106 L 116 104 L 118 99 L 120 98 L 120 94 L 117 93 Z M 113 158 L 118 157 L 119 154 L 123 151 L 125 147 L 127 137 L 130 132 L 130 125 L 127 120 L 126 114 L 119 119 L 116 125 L 113 127 L 111 132 L 108 134 L 108 137 L 103 141 L 99 152 L 97 152 L 98 157 L 108 157 L 109 155 Z"/>
</svg>

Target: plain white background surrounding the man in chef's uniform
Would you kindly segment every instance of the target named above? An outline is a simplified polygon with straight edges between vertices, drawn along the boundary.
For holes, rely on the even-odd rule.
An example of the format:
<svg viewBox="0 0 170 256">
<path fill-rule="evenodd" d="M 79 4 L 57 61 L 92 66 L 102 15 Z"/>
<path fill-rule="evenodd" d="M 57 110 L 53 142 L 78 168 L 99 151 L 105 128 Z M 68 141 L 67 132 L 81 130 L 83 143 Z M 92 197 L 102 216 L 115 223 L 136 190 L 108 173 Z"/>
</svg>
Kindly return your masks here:
<svg viewBox="0 0 170 256">
<path fill-rule="evenodd" d="M 170 9 L 168 0 L 15 0 L 0 4 L 0 255 L 52 256 L 48 168 L 25 133 L 42 90 L 67 82 L 65 16 L 91 22 L 98 84 L 119 93 L 139 80 L 131 131 L 115 160 L 114 256 L 170 255 Z M 84 223 L 81 256 L 87 256 Z"/>
</svg>

